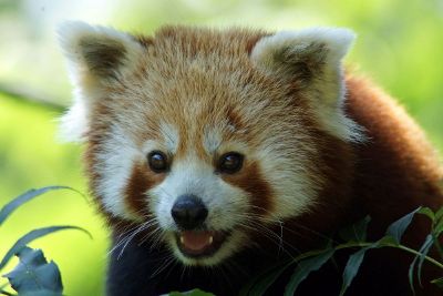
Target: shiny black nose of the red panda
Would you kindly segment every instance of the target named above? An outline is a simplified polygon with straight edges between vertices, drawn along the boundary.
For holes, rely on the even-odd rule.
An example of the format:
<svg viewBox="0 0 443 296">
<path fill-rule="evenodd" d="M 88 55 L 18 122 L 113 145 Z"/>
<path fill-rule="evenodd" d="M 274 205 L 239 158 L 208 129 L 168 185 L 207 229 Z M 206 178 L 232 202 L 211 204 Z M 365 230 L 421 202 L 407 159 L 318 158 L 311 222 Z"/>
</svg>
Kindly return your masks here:
<svg viewBox="0 0 443 296">
<path fill-rule="evenodd" d="M 205 222 L 208 211 L 197 196 L 182 195 L 175 202 L 171 214 L 178 227 L 183 229 L 194 229 Z"/>
</svg>

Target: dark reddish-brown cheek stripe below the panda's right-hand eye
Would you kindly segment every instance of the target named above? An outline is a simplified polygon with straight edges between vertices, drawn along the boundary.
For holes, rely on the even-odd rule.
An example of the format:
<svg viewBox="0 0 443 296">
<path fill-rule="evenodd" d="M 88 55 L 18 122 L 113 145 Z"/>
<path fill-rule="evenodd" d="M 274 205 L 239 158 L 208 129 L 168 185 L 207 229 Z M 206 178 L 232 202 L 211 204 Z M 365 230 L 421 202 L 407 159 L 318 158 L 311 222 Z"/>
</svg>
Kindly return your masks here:
<svg viewBox="0 0 443 296">
<path fill-rule="evenodd" d="M 222 176 L 229 184 L 249 193 L 251 211 L 265 216 L 272 211 L 272 190 L 257 163 L 250 163 L 239 173 Z"/>
</svg>

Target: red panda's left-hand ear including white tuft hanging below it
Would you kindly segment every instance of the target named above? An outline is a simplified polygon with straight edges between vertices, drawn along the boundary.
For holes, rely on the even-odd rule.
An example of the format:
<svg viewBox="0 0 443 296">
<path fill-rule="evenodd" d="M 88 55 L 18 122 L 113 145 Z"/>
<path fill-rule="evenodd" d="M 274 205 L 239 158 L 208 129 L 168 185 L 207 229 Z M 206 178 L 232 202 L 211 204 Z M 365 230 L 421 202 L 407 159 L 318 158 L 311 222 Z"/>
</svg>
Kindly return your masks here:
<svg viewBox="0 0 443 296">
<path fill-rule="evenodd" d="M 58 30 L 74 85 L 74 103 L 61 118 L 61 139 L 81 142 L 87 132 L 89 110 L 103 96 L 103 85 L 130 73 L 144 49 L 131 34 L 80 21 Z"/>
</svg>

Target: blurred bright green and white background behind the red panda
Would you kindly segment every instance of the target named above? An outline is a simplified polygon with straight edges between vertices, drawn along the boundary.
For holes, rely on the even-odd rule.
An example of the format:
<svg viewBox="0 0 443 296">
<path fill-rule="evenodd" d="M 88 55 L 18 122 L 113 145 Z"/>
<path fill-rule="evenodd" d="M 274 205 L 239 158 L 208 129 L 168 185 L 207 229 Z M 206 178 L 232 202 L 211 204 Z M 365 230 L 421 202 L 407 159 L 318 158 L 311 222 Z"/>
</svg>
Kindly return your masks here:
<svg viewBox="0 0 443 296">
<path fill-rule="evenodd" d="M 55 140 L 71 99 L 55 28 L 72 19 L 147 34 L 164 23 L 352 28 L 359 38 L 347 62 L 398 98 L 443 147 L 443 0 L 0 0 L 0 205 L 31 187 L 86 192 L 81 147 Z M 50 193 L 20 208 L 0 228 L 0 257 L 20 235 L 52 224 L 94 236 L 65 232 L 32 244 L 59 264 L 65 295 L 102 295 L 107 233 L 76 194 Z"/>
</svg>

